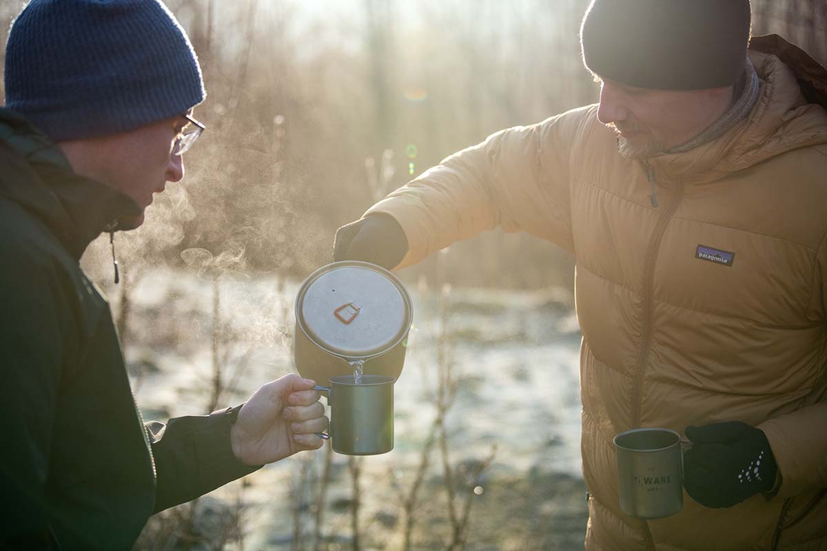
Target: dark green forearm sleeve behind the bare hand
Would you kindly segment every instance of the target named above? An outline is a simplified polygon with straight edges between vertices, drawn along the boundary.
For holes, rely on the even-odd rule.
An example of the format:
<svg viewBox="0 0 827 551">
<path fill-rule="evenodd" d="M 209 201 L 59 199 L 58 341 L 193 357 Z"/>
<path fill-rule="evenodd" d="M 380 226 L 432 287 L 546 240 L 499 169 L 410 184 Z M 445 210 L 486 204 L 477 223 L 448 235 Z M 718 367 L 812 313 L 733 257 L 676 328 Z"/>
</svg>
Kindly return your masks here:
<svg viewBox="0 0 827 551">
<path fill-rule="evenodd" d="M 232 453 L 230 416 L 185 416 L 144 425 L 155 463 L 155 513 L 212 492 L 261 467 Z"/>
</svg>

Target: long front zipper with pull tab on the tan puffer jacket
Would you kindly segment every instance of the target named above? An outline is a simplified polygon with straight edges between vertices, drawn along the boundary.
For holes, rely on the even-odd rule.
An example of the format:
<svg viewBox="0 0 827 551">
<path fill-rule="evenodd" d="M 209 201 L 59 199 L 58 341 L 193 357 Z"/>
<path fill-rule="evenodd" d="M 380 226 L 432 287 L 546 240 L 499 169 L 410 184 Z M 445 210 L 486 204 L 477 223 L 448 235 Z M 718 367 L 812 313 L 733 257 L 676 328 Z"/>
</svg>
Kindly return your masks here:
<svg viewBox="0 0 827 551">
<path fill-rule="evenodd" d="M 647 165 L 648 166 L 648 165 Z M 652 185 L 652 197 L 654 197 L 654 181 L 655 175 L 652 167 L 648 167 L 649 182 Z M 678 183 L 675 197 L 670 202 L 669 208 L 663 213 L 661 218 L 657 221 L 657 226 L 652 235 L 652 240 L 649 242 L 649 248 L 646 251 L 646 259 L 643 264 L 643 341 L 640 346 L 640 360 L 638 361 L 638 370 L 634 373 L 634 380 L 632 385 L 632 429 L 638 429 L 640 425 L 640 408 L 641 408 L 641 393 L 643 392 L 643 371 L 649 357 L 650 347 L 652 345 L 652 302 L 653 302 L 653 286 L 655 280 L 655 264 L 657 264 L 657 254 L 660 251 L 661 241 L 663 235 L 666 234 L 669 221 L 675 214 L 678 205 L 681 203 L 683 196 L 683 185 Z M 653 203 L 657 199 L 653 198 Z"/>
</svg>

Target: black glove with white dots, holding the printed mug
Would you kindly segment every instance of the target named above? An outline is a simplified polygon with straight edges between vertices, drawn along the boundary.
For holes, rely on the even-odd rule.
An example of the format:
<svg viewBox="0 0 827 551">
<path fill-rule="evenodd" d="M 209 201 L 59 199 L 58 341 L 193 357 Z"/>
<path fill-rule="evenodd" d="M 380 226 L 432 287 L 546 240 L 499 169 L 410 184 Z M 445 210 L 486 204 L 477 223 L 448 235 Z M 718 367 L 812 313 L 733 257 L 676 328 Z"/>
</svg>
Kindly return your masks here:
<svg viewBox="0 0 827 551">
<path fill-rule="evenodd" d="M 767 436 L 742 423 L 686 427 L 683 486 L 706 507 L 731 507 L 775 486 L 778 467 Z"/>
</svg>

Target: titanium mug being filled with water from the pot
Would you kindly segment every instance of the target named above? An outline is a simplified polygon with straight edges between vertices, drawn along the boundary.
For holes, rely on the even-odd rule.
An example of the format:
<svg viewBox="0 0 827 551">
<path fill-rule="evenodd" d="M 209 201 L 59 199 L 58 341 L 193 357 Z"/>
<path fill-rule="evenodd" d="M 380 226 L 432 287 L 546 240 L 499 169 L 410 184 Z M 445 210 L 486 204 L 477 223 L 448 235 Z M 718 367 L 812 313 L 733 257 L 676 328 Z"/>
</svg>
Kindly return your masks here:
<svg viewBox="0 0 827 551">
<path fill-rule="evenodd" d="M 330 429 L 316 435 L 330 439 L 333 451 L 346 455 L 378 455 L 394 449 L 394 382 L 387 375 L 353 375 L 330 379 L 327 394 Z"/>
</svg>

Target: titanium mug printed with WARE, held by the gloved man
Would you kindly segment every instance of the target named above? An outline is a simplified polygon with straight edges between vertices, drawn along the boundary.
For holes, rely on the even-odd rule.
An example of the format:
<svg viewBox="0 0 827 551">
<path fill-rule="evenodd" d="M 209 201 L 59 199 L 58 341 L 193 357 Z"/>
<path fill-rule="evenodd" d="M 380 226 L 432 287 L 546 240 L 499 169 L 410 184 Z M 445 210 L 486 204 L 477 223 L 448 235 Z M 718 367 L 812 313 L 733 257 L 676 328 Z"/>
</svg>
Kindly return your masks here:
<svg viewBox="0 0 827 551">
<path fill-rule="evenodd" d="M 681 435 L 634 429 L 614 437 L 620 509 L 638 519 L 662 519 L 683 508 Z"/>
</svg>

